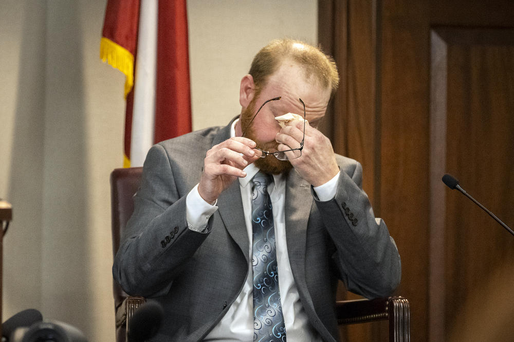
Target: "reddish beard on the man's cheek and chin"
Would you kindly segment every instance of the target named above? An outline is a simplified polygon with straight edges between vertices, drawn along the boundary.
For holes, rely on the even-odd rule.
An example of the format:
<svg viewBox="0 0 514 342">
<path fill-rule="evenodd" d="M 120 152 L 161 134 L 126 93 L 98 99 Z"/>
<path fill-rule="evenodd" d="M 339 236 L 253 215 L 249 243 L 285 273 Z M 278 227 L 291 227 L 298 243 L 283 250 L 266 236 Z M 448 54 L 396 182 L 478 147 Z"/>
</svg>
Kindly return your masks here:
<svg viewBox="0 0 514 342">
<path fill-rule="evenodd" d="M 273 141 L 268 143 L 262 143 L 256 136 L 255 131 L 253 130 L 253 126 L 250 125 L 250 121 L 255 115 L 255 98 L 252 99 L 248 107 L 243 109 L 241 111 L 241 129 L 243 132 L 245 132 L 245 137 L 252 139 L 256 144 L 257 147 L 260 148 L 263 151 L 270 152 L 270 151 L 277 151 L 277 147 L 279 146 L 279 143 Z M 259 115 L 259 114 L 257 114 Z M 258 118 L 255 118 L 258 119 Z M 250 125 L 250 126 L 248 126 Z M 280 173 L 287 173 L 290 169 L 292 169 L 291 163 L 289 163 L 288 160 L 279 160 L 275 158 L 273 155 L 268 154 L 265 158 L 259 158 L 253 162 L 256 167 L 258 167 L 262 172 L 264 173 L 271 173 L 271 174 L 280 174 Z"/>
</svg>

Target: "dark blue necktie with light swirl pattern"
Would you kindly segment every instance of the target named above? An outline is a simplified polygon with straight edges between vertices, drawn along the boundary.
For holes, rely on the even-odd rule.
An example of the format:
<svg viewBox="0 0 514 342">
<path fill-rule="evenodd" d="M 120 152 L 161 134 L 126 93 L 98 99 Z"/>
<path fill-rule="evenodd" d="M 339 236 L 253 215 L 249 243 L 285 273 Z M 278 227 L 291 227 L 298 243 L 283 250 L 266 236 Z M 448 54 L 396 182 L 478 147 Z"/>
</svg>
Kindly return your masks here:
<svg viewBox="0 0 514 342">
<path fill-rule="evenodd" d="M 273 212 L 268 194 L 268 184 L 272 181 L 270 175 L 261 172 L 252 179 L 253 340 L 259 342 L 286 340 Z"/>
</svg>

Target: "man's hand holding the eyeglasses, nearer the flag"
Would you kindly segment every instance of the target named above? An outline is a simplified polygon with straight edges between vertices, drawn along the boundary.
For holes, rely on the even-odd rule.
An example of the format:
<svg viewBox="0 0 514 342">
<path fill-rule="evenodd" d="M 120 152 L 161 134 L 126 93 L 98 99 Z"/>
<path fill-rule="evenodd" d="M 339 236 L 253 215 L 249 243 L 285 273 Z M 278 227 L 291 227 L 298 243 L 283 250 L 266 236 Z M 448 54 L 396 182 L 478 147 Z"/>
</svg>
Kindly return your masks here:
<svg viewBox="0 0 514 342">
<path fill-rule="evenodd" d="M 253 140 L 238 136 L 207 151 L 198 185 L 201 198 L 213 204 L 237 177 L 245 177 L 243 169 L 260 157 L 261 152 L 253 150 L 255 146 Z"/>
</svg>

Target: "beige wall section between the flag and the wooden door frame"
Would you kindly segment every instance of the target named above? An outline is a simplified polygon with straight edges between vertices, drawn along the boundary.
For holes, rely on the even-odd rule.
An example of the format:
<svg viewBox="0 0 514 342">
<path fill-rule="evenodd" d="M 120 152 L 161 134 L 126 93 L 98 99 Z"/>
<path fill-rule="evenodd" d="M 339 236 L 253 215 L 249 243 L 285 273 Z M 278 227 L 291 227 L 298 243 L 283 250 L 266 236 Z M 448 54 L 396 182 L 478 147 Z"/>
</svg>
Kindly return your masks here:
<svg viewBox="0 0 514 342">
<path fill-rule="evenodd" d="M 271 39 L 318 39 L 316 0 L 190 0 L 188 5 L 193 129 L 228 124 L 240 113 L 241 78 Z"/>
</svg>

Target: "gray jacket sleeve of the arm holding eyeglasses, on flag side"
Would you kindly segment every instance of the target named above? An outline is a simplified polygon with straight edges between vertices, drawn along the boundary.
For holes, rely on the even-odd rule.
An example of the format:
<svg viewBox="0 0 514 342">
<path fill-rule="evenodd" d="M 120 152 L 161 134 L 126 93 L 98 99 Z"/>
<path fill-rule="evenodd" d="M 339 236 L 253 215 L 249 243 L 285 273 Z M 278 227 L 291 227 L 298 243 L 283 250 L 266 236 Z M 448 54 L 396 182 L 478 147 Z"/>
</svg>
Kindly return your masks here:
<svg viewBox="0 0 514 342">
<path fill-rule="evenodd" d="M 128 294 L 169 292 L 185 261 L 209 235 L 188 228 L 187 193 L 180 193 L 176 182 L 166 151 L 155 145 L 144 162 L 134 213 L 114 259 L 114 278 Z"/>
</svg>

